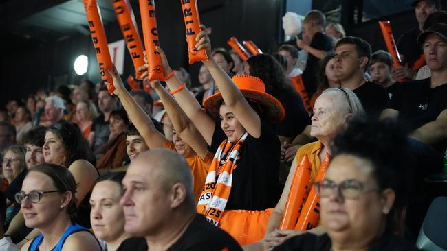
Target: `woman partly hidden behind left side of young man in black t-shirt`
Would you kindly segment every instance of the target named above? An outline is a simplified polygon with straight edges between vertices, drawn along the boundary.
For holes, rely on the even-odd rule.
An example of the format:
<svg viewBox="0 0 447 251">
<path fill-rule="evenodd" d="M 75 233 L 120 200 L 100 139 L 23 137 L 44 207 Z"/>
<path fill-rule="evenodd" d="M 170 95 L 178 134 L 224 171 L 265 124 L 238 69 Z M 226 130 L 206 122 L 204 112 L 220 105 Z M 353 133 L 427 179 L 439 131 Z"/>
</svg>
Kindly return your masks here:
<svg viewBox="0 0 447 251">
<path fill-rule="evenodd" d="M 334 63 L 336 61 L 334 57 L 334 53 L 329 52 L 326 54 L 325 58 L 321 60 L 320 69 L 317 75 L 318 87 L 316 93 L 314 93 L 310 100 L 310 105 L 312 107 L 314 107 L 316 98 L 327 88 L 339 88 L 341 86 L 340 80 L 334 75 Z"/>
</svg>

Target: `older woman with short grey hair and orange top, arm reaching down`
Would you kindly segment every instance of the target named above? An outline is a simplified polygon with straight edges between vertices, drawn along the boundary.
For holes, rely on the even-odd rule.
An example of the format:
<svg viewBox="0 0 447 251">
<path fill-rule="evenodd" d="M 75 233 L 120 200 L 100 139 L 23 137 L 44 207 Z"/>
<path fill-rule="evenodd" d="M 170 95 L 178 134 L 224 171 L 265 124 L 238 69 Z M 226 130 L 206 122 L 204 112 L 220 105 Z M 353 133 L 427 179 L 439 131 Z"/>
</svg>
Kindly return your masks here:
<svg viewBox="0 0 447 251">
<path fill-rule="evenodd" d="M 267 225 L 265 234 L 265 245 L 272 248 L 278 245 L 276 235 L 271 235 L 276 228 L 279 228 L 281 219 L 284 214 L 285 204 L 289 197 L 290 187 L 296 171 L 298 163 L 307 154 L 312 164 L 312 173 L 309 181 L 309 187 L 314 184 L 316 174 L 320 169 L 326 154 L 332 154 L 332 141 L 334 138 L 345 130 L 347 123 L 351 119 L 361 117 L 363 108 L 356 95 L 347 88 L 329 88 L 323 91 L 316 99 L 314 106 L 314 115 L 312 116 L 312 128 L 310 134 L 318 141 L 303 145 L 296 152 L 296 156 L 290 166 L 289 176 L 285 182 L 281 199 L 276 204 Z M 282 239 L 283 241 L 283 239 Z"/>
</svg>

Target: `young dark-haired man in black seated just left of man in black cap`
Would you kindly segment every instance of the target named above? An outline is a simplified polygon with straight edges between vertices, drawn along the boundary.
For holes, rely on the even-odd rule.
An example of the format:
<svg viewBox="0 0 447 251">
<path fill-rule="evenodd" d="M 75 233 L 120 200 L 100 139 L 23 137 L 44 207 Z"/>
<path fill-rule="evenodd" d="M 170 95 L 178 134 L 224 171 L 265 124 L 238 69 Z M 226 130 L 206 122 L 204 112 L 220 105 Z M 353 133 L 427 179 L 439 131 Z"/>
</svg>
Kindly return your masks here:
<svg viewBox="0 0 447 251">
<path fill-rule="evenodd" d="M 393 97 L 397 91 L 398 84 L 391 74 L 393 71 L 393 58 L 386 51 L 375 51 L 371 55 L 371 64 L 369 64 L 369 73 L 371 81 L 384 86 L 390 97 Z"/>
</svg>

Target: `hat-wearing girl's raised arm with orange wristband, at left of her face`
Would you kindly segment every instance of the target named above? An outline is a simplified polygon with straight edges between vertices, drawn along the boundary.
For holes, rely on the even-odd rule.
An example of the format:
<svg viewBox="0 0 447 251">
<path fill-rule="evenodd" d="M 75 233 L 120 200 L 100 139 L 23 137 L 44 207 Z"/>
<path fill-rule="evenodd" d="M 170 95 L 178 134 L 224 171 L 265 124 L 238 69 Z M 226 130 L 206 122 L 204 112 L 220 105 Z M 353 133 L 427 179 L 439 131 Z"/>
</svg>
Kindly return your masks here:
<svg viewBox="0 0 447 251">
<path fill-rule="evenodd" d="M 172 72 L 172 69 L 168 64 L 166 55 L 164 54 L 164 51 L 160 47 L 157 47 L 157 49 L 162 58 L 162 64 L 163 64 L 162 67 L 164 75 L 169 75 Z M 147 77 L 146 65 L 138 68 L 138 71 L 144 71 L 144 73 L 141 76 Z M 214 133 L 216 126 L 215 121 L 213 121 L 204 112 L 204 110 L 202 110 L 199 102 L 197 101 L 197 99 L 195 99 L 193 94 L 188 91 L 188 88 L 182 87 L 182 82 L 180 82 L 179 78 L 175 74 L 172 77 L 169 77 L 167 80 L 165 80 L 165 82 L 171 91 L 179 90 L 175 92 L 175 94 L 173 95 L 175 97 L 175 100 L 177 100 L 179 106 L 182 108 L 182 110 L 184 110 L 188 118 L 191 121 L 193 121 L 197 130 L 199 130 L 201 136 L 203 136 L 204 139 L 206 140 L 206 143 L 208 143 L 208 145 L 211 145 L 212 134 Z"/>
</svg>

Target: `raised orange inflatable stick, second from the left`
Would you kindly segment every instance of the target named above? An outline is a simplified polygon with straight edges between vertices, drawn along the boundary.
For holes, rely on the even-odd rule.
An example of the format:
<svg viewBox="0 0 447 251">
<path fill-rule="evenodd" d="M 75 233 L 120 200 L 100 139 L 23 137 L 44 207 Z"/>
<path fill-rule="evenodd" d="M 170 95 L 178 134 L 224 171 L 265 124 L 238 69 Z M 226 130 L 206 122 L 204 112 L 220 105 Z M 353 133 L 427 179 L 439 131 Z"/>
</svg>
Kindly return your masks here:
<svg viewBox="0 0 447 251">
<path fill-rule="evenodd" d="M 143 44 L 141 43 L 141 38 L 138 35 L 135 25 L 131 19 L 131 6 L 128 4 L 127 0 L 111 0 L 113 8 L 115 9 L 115 15 L 120 23 L 120 28 L 122 36 L 126 41 L 127 49 L 131 54 L 133 67 L 135 67 L 135 74 L 138 80 L 141 79 L 142 72 L 138 71 L 138 67 L 144 65 L 143 60 Z"/>
</svg>

